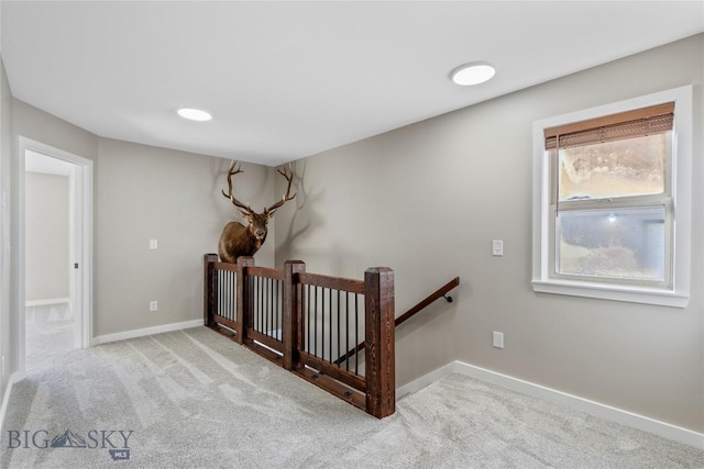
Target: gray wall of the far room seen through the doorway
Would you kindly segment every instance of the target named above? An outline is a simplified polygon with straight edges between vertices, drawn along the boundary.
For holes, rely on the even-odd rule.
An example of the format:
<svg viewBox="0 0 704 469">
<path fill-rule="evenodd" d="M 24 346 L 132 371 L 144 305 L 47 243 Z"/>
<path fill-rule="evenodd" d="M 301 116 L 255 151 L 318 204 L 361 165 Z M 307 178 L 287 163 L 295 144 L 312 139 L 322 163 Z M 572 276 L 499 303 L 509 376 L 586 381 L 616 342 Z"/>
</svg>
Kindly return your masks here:
<svg viewBox="0 0 704 469">
<path fill-rule="evenodd" d="M 68 284 L 68 176 L 24 176 L 24 299 L 65 299 Z"/>
</svg>

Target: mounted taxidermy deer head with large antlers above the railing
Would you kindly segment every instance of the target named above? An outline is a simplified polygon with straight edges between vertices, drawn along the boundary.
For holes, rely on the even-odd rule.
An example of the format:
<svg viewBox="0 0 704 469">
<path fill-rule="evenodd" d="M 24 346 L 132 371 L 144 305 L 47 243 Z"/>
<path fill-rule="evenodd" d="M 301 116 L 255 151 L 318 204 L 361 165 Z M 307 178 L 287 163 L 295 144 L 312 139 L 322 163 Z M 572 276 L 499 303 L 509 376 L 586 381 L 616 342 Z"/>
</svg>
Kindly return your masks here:
<svg viewBox="0 0 704 469">
<path fill-rule="evenodd" d="M 288 167 L 285 167 L 283 170 L 280 168 L 277 169 L 277 172 L 288 181 L 286 193 L 282 200 L 267 206 L 262 213 L 256 213 L 249 204 L 240 202 L 232 194 L 232 177 L 240 172 L 244 171 L 240 168 L 240 165 L 233 160 L 228 171 L 229 190 L 227 193 L 224 189 L 222 190 L 222 194 L 230 199 L 232 204 L 240 210 L 242 216 L 248 221 L 246 226 L 239 222 L 228 223 L 224 230 L 222 230 L 222 235 L 220 235 L 218 254 L 223 263 L 231 264 L 235 264 L 240 256 L 254 256 L 254 253 L 256 253 L 264 244 L 264 241 L 266 241 L 267 224 L 271 217 L 274 216 L 274 213 L 279 206 L 296 197 L 296 194 L 289 196 L 290 183 L 294 180 L 294 170 L 290 165 L 288 165 Z"/>
</svg>

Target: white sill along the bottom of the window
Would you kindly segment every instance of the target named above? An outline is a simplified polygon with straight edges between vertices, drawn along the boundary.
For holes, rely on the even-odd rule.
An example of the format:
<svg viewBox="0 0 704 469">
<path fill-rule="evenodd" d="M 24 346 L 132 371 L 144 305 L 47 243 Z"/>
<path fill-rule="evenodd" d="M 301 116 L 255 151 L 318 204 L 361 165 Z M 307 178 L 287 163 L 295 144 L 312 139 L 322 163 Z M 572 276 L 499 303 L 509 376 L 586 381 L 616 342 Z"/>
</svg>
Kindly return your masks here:
<svg viewBox="0 0 704 469">
<path fill-rule="evenodd" d="M 686 308 L 690 302 L 689 294 L 681 294 L 672 290 L 569 280 L 534 280 L 532 289 L 540 293 L 597 298 L 602 300 L 626 301 L 671 308 Z"/>
</svg>

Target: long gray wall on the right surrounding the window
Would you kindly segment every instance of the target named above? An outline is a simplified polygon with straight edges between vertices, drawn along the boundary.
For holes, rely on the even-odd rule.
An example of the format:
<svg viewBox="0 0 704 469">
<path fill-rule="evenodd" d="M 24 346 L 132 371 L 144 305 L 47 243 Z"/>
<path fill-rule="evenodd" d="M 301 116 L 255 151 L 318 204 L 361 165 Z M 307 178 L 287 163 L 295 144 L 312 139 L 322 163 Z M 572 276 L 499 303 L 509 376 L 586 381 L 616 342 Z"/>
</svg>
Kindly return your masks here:
<svg viewBox="0 0 704 469">
<path fill-rule="evenodd" d="M 277 215 L 277 263 L 354 278 L 391 267 L 397 314 L 461 277 L 455 302 L 397 331 L 399 386 L 457 359 L 704 431 L 701 183 L 689 308 L 530 286 L 534 121 L 692 83 L 701 181 L 703 43 L 697 35 L 297 161 L 297 210 Z M 492 239 L 504 241 L 504 257 L 492 256 Z M 504 349 L 492 347 L 493 331 Z"/>
</svg>

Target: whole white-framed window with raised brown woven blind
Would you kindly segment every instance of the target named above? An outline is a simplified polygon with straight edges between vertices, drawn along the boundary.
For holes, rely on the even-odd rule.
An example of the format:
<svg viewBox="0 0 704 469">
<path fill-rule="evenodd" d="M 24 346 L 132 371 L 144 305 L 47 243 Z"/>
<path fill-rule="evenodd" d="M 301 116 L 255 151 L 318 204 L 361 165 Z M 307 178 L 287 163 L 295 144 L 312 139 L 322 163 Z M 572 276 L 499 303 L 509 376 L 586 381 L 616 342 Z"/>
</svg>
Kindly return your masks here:
<svg viewBox="0 0 704 469">
<path fill-rule="evenodd" d="M 686 305 L 691 105 L 684 87 L 536 122 L 536 291 Z"/>
</svg>

